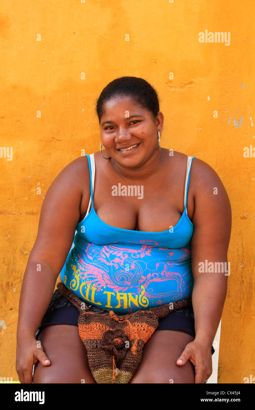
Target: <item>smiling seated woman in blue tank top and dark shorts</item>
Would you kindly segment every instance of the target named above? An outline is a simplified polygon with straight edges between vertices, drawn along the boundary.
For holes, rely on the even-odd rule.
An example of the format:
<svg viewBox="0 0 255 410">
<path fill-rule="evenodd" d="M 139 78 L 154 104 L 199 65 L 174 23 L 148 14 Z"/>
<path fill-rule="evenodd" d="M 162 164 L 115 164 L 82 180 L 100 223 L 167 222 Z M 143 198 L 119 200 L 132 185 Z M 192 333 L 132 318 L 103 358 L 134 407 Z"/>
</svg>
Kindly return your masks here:
<svg viewBox="0 0 255 410">
<path fill-rule="evenodd" d="M 100 150 L 65 166 L 43 201 L 20 295 L 19 380 L 95 383 L 77 308 L 58 289 L 52 297 L 61 272 L 92 311 L 123 314 L 192 297 L 192 307 L 159 319 L 130 383 L 206 383 L 228 273 L 201 266 L 227 262 L 226 190 L 205 162 L 160 148 L 164 116 L 142 78 L 109 83 L 97 115 Z"/>
</svg>

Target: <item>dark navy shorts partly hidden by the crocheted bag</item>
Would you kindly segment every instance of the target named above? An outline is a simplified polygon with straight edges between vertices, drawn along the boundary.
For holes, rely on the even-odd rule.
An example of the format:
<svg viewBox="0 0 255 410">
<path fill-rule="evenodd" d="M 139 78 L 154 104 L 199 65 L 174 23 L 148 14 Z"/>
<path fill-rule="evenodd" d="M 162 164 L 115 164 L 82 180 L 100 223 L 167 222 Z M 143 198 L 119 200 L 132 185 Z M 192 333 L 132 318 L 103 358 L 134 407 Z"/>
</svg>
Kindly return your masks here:
<svg viewBox="0 0 255 410">
<path fill-rule="evenodd" d="M 102 312 L 99 307 L 88 305 L 91 310 Z M 78 326 L 79 310 L 71 302 L 69 302 L 61 294 L 59 289 L 56 289 L 50 305 L 45 312 L 45 315 L 41 321 L 41 324 L 36 332 L 36 340 L 41 330 L 48 325 L 75 325 Z M 189 335 L 195 337 L 194 327 L 194 312 L 192 306 L 183 307 L 178 310 L 174 310 L 167 316 L 158 319 L 158 327 L 156 330 L 185 330 Z M 156 331 L 155 330 L 155 331 Z M 212 354 L 214 348 L 212 346 Z"/>
</svg>

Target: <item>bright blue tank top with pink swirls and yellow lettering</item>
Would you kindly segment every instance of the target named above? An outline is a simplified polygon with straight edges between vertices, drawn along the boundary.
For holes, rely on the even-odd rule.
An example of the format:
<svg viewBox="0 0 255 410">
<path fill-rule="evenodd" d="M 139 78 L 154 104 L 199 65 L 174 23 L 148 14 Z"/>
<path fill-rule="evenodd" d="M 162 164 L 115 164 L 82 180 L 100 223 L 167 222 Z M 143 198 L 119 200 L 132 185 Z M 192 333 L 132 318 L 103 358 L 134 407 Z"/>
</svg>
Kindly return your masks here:
<svg viewBox="0 0 255 410">
<path fill-rule="evenodd" d="M 116 228 L 97 216 L 93 207 L 95 158 L 94 154 L 86 156 L 90 202 L 60 272 L 65 286 L 82 300 L 119 314 L 191 298 L 194 225 L 187 215 L 187 192 L 196 157 L 187 157 L 184 212 L 178 223 L 162 232 L 145 232 Z"/>
</svg>

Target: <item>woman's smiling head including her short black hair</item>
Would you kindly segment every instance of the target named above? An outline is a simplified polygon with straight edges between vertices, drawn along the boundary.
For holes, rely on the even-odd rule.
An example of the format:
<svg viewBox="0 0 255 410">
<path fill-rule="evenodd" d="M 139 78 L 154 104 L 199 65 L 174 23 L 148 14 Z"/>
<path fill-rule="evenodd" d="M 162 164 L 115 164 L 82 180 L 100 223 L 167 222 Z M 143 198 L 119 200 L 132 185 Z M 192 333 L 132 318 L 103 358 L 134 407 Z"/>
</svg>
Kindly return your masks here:
<svg viewBox="0 0 255 410">
<path fill-rule="evenodd" d="M 114 149 L 115 155 L 117 152 L 120 158 L 126 158 L 131 166 L 133 159 L 136 163 L 139 163 L 139 158 L 144 161 L 149 154 L 153 156 L 153 148 L 160 147 L 164 116 L 159 111 L 156 90 L 142 78 L 121 77 L 109 83 L 97 100 L 96 110 L 101 145 L 112 157 Z M 118 139 L 116 133 L 119 134 Z M 156 152 L 152 161 L 158 156 L 155 156 Z M 123 173 L 130 177 L 130 173 L 122 169 Z"/>
</svg>

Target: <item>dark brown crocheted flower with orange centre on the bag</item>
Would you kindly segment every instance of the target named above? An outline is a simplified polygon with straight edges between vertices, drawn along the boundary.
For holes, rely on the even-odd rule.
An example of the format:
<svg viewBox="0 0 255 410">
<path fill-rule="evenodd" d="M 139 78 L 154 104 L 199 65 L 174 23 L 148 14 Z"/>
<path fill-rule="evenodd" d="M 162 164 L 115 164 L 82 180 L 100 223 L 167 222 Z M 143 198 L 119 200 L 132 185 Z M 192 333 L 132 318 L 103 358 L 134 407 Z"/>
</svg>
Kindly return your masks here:
<svg viewBox="0 0 255 410">
<path fill-rule="evenodd" d="M 113 352 L 117 358 L 123 359 L 126 351 L 127 336 L 122 329 L 106 330 L 102 335 L 101 348 L 104 351 Z"/>
</svg>

